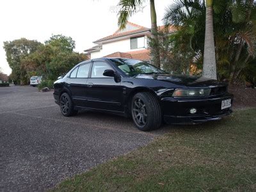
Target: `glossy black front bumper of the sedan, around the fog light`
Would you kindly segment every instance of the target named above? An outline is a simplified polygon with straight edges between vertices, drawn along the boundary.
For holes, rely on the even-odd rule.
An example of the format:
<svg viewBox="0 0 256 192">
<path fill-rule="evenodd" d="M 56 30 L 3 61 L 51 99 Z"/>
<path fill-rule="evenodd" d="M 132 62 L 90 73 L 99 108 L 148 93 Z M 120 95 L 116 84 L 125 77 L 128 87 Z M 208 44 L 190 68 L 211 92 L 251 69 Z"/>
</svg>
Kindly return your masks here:
<svg viewBox="0 0 256 192">
<path fill-rule="evenodd" d="M 161 99 L 164 122 L 168 124 L 201 124 L 208 121 L 220 120 L 224 116 L 230 115 L 232 109 L 221 109 L 221 101 L 231 99 L 233 95 L 189 99 L 166 97 Z M 189 109 L 196 108 L 195 114 L 190 114 Z"/>
</svg>

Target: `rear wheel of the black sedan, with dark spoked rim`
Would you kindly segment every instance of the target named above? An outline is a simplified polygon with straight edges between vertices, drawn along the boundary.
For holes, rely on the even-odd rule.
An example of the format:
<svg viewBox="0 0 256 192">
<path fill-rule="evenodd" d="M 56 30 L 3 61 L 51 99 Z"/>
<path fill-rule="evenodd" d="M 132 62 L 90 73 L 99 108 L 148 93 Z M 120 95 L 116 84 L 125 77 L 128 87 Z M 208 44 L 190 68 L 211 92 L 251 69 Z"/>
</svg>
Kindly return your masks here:
<svg viewBox="0 0 256 192">
<path fill-rule="evenodd" d="M 60 96 L 60 111 L 64 116 L 73 116 L 77 114 L 77 110 L 74 110 L 74 104 L 68 93 L 63 93 Z"/>
</svg>

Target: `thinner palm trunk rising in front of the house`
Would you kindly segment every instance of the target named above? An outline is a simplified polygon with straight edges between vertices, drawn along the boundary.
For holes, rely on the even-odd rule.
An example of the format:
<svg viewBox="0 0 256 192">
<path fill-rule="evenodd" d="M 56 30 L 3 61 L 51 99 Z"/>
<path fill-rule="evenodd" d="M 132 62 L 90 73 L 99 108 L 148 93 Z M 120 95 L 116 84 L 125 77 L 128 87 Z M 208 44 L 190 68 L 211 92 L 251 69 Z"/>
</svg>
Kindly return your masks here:
<svg viewBox="0 0 256 192">
<path fill-rule="evenodd" d="M 157 17 L 154 0 L 150 0 L 150 15 L 151 15 L 151 33 L 152 43 L 150 52 L 150 61 L 152 64 L 160 67 L 160 53 L 159 53 L 159 40 L 157 35 Z"/>
</svg>

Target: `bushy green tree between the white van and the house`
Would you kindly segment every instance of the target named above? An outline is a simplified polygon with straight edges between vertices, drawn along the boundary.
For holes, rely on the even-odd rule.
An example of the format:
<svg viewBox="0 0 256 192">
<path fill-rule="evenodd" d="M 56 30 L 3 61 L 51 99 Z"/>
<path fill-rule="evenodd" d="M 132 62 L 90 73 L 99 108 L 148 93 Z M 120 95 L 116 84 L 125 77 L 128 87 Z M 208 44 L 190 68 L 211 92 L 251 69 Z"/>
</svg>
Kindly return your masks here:
<svg viewBox="0 0 256 192">
<path fill-rule="evenodd" d="M 42 75 L 45 79 L 55 81 L 77 63 L 87 60 L 85 54 L 74 52 L 75 42 L 71 37 L 52 35 L 38 49 L 22 60 L 28 75 Z"/>
</svg>

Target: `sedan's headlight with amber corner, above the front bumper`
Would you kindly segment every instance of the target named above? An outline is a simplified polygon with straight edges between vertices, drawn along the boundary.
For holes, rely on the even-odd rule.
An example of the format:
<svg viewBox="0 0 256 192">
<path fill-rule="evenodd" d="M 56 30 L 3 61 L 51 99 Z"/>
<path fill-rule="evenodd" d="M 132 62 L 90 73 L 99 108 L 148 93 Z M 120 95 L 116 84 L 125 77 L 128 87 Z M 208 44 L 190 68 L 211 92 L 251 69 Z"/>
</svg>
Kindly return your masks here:
<svg viewBox="0 0 256 192">
<path fill-rule="evenodd" d="M 173 97 L 201 97 L 209 96 L 211 88 L 201 88 L 201 89 L 177 89 L 173 92 Z"/>
</svg>

